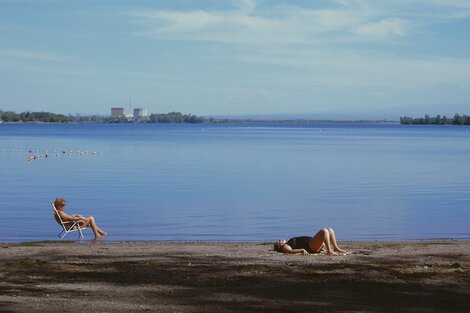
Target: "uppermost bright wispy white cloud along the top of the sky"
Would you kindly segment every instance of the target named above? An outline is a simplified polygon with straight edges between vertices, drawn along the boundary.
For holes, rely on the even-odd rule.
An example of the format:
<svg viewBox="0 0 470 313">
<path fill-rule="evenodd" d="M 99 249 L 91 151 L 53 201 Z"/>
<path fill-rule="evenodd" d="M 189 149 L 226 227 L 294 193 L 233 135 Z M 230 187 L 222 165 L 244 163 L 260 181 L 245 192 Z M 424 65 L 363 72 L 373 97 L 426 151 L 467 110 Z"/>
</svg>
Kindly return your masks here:
<svg viewBox="0 0 470 313">
<path fill-rule="evenodd" d="M 376 40 L 405 36 L 408 23 L 386 17 L 364 4 L 306 9 L 292 5 L 259 8 L 239 1 L 224 11 L 138 10 L 132 18 L 144 23 L 140 35 L 173 40 L 233 44 L 311 44 L 331 38 Z"/>
</svg>

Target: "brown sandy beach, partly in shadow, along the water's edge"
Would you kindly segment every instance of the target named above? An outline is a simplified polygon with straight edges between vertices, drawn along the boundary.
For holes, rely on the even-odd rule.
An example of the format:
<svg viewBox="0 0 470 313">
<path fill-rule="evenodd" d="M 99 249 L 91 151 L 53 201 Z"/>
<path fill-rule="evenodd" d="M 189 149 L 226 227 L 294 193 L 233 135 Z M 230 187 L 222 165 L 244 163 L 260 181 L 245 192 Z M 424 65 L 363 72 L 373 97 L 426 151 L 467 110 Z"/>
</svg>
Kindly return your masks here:
<svg viewBox="0 0 470 313">
<path fill-rule="evenodd" d="M 0 245 L 0 312 L 469 312 L 470 241 Z"/>
</svg>

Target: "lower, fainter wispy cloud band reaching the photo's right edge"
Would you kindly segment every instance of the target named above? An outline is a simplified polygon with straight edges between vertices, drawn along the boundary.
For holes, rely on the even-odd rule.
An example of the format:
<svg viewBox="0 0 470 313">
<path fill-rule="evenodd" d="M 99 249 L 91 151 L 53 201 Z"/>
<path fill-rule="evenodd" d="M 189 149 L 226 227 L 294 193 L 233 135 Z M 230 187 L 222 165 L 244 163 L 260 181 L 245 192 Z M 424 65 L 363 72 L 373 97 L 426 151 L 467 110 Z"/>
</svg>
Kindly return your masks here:
<svg viewBox="0 0 470 313">
<path fill-rule="evenodd" d="M 273 66 L 271 73 L 290 69 L 295 75 L 260 73 L 255 85 L 273 84 L 296 88 L 332 86 L 367 90 L 422 90 L 457 86 L 470 81 L 470 60 L 444 57 L 395 57 L 363 51 L 276 49 L 243 56 L 243 61 Z M 279 66 L 280 70 L 276 70 Z M 371 91 L 372 92 L 372 91 Z"/>
</svg>

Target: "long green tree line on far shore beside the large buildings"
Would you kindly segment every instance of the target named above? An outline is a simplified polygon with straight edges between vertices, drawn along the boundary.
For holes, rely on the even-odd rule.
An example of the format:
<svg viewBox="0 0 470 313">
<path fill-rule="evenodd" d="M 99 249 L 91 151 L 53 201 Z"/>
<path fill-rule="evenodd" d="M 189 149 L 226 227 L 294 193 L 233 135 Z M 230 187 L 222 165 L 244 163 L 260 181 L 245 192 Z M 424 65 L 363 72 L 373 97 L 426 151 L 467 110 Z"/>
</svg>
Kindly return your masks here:
<svg viewBox="0 0 470 313">
<path fill-rule="evenodd" d="M 205 119 L 193 114 L 180 112 L 151 114 L 148 118 L 138 120 L 125 116 L 112 118 L 110 116 L 72 116 L 50 112 L 23 112 L 0 111 L 0 121 L 13 123 L 203 123 Z"/>
</svg>

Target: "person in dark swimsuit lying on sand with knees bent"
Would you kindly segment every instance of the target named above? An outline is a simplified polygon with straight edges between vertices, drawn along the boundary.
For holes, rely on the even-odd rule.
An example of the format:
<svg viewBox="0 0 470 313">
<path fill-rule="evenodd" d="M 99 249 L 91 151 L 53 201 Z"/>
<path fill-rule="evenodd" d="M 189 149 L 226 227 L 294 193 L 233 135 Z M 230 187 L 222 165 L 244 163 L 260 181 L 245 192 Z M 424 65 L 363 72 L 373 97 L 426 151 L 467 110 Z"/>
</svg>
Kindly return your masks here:
<svg viewBox="0 0 470 313">
<path fill-rule="evenodd" d="M 351 253 L 338 247 L 333 228 L 322 228 L 313 237 L 292 237 L 288 241 L 279 239 L 274 243 L 275 251 L 288 254 L 308 255 L 310 253 L 320 253 L 323 248 L 326 249 L 327 255 L 344 255 Z"/>
</svg>

